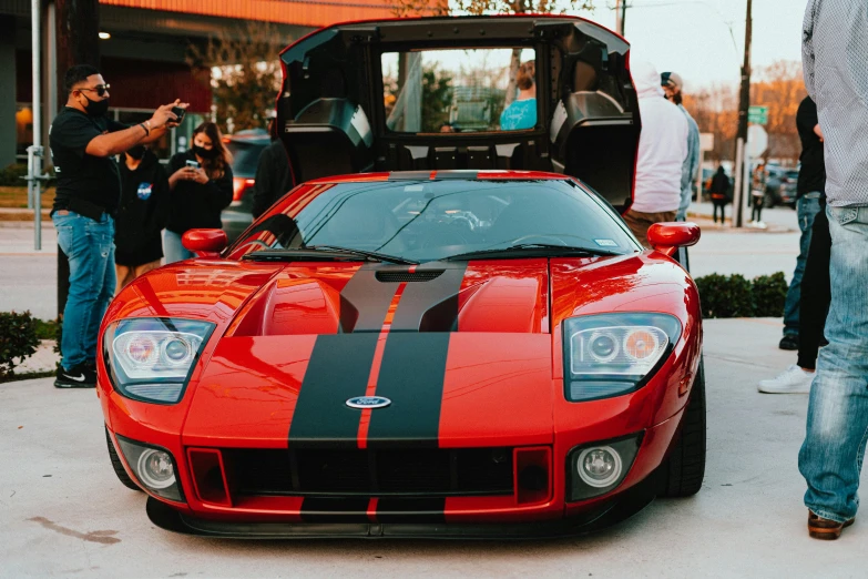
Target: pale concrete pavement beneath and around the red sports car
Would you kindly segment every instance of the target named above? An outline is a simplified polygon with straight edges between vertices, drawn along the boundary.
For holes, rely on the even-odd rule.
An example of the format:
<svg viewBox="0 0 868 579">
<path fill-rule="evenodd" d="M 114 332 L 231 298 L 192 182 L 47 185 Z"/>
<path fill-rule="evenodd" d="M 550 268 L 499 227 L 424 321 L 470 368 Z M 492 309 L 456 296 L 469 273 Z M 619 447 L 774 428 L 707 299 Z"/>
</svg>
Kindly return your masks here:
<svg viewBox="0 0 868 579">
<path fill-rule="evenodd" d="M 868 522 L 837 542 L 807 536 L 796 465 L 807 396 L 756 392 L 794 362 L 779 334 L 776 319 L 706 322 L 708 461 L 696 497 L 548 541 L 173 535 L 114 478 L 93 390 L 0 385 L 0 577 L 865 577 Z"/>
</svg>

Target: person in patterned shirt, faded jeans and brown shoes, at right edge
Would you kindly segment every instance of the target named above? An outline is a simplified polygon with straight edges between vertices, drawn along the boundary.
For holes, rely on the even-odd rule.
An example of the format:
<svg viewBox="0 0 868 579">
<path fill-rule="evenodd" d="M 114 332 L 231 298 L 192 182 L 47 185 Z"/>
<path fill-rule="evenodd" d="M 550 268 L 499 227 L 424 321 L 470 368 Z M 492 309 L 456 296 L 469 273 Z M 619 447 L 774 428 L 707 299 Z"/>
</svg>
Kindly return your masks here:
<svg viewBox="0 0 868 579">
<path fill-rule="evenodd" d="M 805 87 L 817 103 L 826 166 L 831 301 L 808 398 L 798 467 L 808 535 L 834 540 L 859 507 L 868 440 L 868 2 L 809 0 Z"/>
</svg>

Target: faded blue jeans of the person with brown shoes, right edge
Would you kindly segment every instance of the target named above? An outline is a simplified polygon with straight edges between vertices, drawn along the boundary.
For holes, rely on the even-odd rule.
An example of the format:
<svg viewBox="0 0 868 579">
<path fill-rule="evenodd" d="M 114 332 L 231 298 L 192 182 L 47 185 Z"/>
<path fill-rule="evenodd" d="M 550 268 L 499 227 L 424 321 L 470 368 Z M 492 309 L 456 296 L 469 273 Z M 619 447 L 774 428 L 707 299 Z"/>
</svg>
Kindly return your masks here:
<svg viewBox="0 0 868 579">
<path fill-rule="evenodd" d="M 859 474 L 868 438 L 868 207 L 827 207 L 831 234 L 829 345 L 820 349 L 810 388 L 798 467 L 805 505 L 844 522 L 859 507 Z"/>
</svg>

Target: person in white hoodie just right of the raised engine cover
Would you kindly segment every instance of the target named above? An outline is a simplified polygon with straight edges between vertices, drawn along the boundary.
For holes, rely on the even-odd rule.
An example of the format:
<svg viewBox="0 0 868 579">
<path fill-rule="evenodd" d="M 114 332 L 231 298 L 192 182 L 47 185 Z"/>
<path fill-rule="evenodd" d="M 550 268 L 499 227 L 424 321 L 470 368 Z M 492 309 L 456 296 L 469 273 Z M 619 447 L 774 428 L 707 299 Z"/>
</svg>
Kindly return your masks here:
<svg viewBox="0 0 868 579">
<path fill-rule="evenodd" d="M 639 241 L 650 247 L 649 227 L 675 221 L 681 204 L 682 167 L 687 158 L 687 119 L 666 100 L 653 64 L 631 62 L 630 71 L 639 96 L 642 132 L 633 204 L 623 216 Z"/>
</svg>

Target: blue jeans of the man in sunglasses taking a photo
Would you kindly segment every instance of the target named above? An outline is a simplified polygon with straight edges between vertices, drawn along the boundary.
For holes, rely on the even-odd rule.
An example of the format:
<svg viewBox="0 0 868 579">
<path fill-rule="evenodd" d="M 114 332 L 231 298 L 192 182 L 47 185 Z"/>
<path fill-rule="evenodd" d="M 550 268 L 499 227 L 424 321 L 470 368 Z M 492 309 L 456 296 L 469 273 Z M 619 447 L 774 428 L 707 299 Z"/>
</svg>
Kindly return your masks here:
<svg viewBox="0 0 868 579">
<path fill-rule="evenodd" d="M 100 323 L 114 292 L 114 220 L 101 220 L 72 211 L 57 211 L 51 217 L 58 230 L 58 245 L 70 262 L 70 292 L 63 309 L 61 364 L 65 369 L 96 360 Z"/>
</svg>

